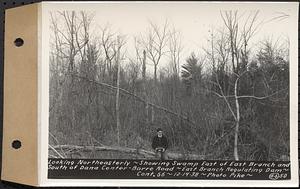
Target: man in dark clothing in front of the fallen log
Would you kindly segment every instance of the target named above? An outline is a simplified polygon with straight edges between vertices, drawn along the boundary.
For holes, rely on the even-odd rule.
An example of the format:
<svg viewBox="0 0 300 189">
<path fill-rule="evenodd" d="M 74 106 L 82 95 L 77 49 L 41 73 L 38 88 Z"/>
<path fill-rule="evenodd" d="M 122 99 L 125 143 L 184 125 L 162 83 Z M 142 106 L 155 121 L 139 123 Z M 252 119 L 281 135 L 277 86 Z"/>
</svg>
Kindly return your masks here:
<svg viewBox="0 0 300 189">
<path fill-rule="evenodd" d="M 166 150 L 168 148 L 168 140 L 165 135 L 163 135 L 163 131 L 161 128 L 158 128 L 157 135 L 152 140 L 152 148 L 156 152 L 156 156 L 159 157 L 161 160 L 166 159 Z"/>
</svg>

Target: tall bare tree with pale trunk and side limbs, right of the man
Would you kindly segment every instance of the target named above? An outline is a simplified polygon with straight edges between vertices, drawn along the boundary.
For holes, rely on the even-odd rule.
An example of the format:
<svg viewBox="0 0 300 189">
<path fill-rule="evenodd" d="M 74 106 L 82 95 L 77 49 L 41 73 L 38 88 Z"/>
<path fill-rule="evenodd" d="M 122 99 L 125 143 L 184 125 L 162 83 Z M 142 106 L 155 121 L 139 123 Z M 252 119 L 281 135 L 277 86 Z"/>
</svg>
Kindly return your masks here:
<svg viewBox="0 0 300 189">
<path fill-rule="evenodd" d="M 241 16 L 238 14 L 238 11 L 224 11 L 221 12 L 221 18 L 223 20 L 224 25 L 227 28 L 226 35 L 228 36 L 228 41 L 229 41 L 229 50 L 231 54 L 231 70 L 233 74 L 233 95 L 227 95 L 226 91 L 224 91 L 224 87 L 220 84 L 220 80 L 218 78 L 218 73 L 216 73 L 216 82 L 214 83 L 218 88 L 219 92 L 213 92 L 220 98 L 224 99 L 229 111 L 231 112 L 231 115 L 233 116 L 235 120 L 235 127 L 234 127 L 234 158 L 235 160 L 239 160 L 239 155 L 238 155 L 238 138 L 239 138 L 239 127 L 240 127 L 240 118 L 241 118 L 241 113 L 240 113 L 240 103 L 239 99 L 248 97 L 248 98 L 254 98 L 254 99 L 264 99 L 267 98 L 269 95 L 265 97 L 256 97 L 253 95 L 249 96 L 240 96 L 239 95 L 239 81 L 241 80 L 242 76 L 246 75 L 248 73 L 248 70 L 245 69 L 247 64 L 248 64 L 248 43 L 250 39 L 253 37 L 255 32 L 257 31 L 259 24 L 256 23 L 257 21 L 257 16 L 258 16 L 258 11 L 253 13 L 250 13 L 248 17 L 246 18 L 246 21 L 244 24 L 239 22 L 239 19 Z M 243 28 L 240 31 L 239 26 L 242 25 Z M 226 44 L 226 40 L 223 38 L 224 34 L 221 33 L 221 41 L 219 43 L 219 47 L 222 47 L 223 44 Z M 212 37 L 212 39 L 214 39 Z M 225 42 L 225 43 L 224 43 Z M 214 43 L 212 43 L 214 44 Z M 215 48 L 212 47 L 211 49 L 211 56 L 213 55 L 215 51 Z M 222 63 L 225 64 L 227 62 L 227 56 L 226 53 L 222 51 L 221 48 L 218 48 L 217 53 L 222 57 Z M 213 56 L 213 61 L 214 61 L 214 56 Z M 241 67 L 241 64 L 245 65 L 245 67 Z M 230 99 L 234 99 L 234 106 L 230 103 Z"/>
</svg>

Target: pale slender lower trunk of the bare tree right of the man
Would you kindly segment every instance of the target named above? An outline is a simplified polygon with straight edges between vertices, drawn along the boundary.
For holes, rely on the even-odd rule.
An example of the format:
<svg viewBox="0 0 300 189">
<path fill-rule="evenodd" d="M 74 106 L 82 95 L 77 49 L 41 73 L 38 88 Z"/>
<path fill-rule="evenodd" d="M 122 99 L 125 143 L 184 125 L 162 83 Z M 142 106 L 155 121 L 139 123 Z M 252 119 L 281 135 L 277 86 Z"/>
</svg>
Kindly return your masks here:
<svg viewBox="0 0 300 189">
<path fill-rule="evenodd" d="M 236 107 L 236 125 L 234 130 L 234 150 L 233 155 L 234 159 L 236 161 L 239 160 L 239 154 L 238 154 L 238 138 L 239 138 L 239 127 L 240 127 L 240 105 L 239 105 L 239 99 L 238 99 L 238 80 L 236 79 L 235 85 L 234 85 L 234 96 L 235 96 L 235 107 Z"/>
</svg>

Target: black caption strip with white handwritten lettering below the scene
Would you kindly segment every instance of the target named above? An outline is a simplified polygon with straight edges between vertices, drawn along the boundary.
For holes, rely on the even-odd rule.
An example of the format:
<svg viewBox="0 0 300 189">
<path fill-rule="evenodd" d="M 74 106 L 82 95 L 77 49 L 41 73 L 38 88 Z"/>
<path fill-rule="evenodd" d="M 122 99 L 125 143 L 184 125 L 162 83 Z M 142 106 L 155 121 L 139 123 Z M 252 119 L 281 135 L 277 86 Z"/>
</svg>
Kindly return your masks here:
<svg viewBox="0 0 300 189">
<path fill-rule="evenodd" d="M 290 179 L 290 162 L 49 159 L 48 178 Z"/>
</svg>

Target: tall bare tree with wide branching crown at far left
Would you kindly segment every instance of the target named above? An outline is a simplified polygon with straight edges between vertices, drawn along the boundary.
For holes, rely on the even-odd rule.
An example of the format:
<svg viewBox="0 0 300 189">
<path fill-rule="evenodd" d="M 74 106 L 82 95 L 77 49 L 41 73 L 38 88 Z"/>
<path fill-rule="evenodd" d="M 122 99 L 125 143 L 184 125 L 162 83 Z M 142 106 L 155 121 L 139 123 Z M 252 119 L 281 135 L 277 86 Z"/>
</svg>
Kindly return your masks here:
<svg viewBox="0 0 300 189">
<path fill-rule="evenodd" d="M 76 107 L 74 105 L 73 91 L 76 90 L 74 78 L 70 73 L 74 73 L 78 68 L 78 55 L 87 51 L 87 44 L 90 39 L 89 25 L 92 17 L 85 12 L 75 11 L 57 11 L 51 13 L 51 28 L 54 31 L 54 44 L 57 54 L 57 66 L 61 67 L 60 85 L 61 93 L 58 100 L 62 106 L 62 101 L 67 101 L 68 106 L 62 107 L 69 109 L 71 114 L 68 116 L 68 122 L 74 127 L 76 125 Z M 59 64 L 59 65 L 58 65 Z M 52 107 L 53 109 L 53 107 Z M 64 109 L 62 109 L 64 111 Z"/>
</svg>

